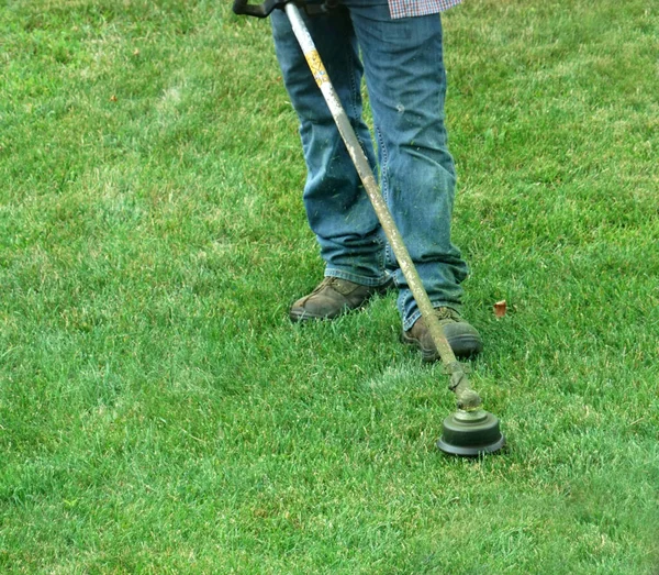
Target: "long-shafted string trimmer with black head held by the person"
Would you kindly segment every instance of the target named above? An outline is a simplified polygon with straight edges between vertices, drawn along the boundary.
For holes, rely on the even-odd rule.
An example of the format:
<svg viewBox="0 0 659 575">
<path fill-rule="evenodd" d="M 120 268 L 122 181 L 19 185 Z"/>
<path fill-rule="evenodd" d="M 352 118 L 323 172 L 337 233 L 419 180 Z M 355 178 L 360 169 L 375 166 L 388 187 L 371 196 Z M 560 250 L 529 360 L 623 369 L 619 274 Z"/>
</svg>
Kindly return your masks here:
<svg viewBox="0 0 659 575">
<path fill-rule="evenodd" d="M 328 0 L 331 2 L 332 0 Z M 304 24 L 297 4 L 303 2 L 293 0 L 266 0 L 263 4 L 249 4 L 248 0 L 235 0 L 233 11 L 236 14 L 246 14 L 257 18 L 266 18 L 273 10 L 283 10 L 288 15 L 291 27 L 304 57 L 309 63 L 311 73 L 321 89 L 327 107 L 336 122 L 336 126 L 348 150 L 355 168 L 361 178 L 364 188 L 373 206 L 382 230 L 389 240 L 389 244 L 398 259 L 401 272 L 407 280 L 410 290 L 414 296 L 418 310 L 425 319 L 433 341 L 444 364 L 444 369 L 450 376 L 449 388 L 455 392 L 457 410 L 447 417 L 443 423 L 442 438 L 437 446 L 455 455 L 473 456 L 483 453 L 499 451 L 505 443 L 505 438 L 499 429 L 499 419 L 482 409 L 482 400 L 471 387 L 467 377 L 467 366 L 459 363 L 444 335 L 439 320 L 435 316 L 433 305 L 423 287 L 418 273 L 414 267 L 412 258 L 405 247 L 399 229 L 396 228 L 391 212 L 382 198 L 380 188 L 368 163 L 366 154 L 361 150 L 357 135 L 350 125 L 348 117 L 340 104 L 338 96 L 330 81 L 327 71 L 315 48 L 313 38 Z M 327 9 L 328 3 L 314 4 L 314 11 L 322 12 Z M 311 8 L 311 7 L 309 7 Z"/>
</svg>

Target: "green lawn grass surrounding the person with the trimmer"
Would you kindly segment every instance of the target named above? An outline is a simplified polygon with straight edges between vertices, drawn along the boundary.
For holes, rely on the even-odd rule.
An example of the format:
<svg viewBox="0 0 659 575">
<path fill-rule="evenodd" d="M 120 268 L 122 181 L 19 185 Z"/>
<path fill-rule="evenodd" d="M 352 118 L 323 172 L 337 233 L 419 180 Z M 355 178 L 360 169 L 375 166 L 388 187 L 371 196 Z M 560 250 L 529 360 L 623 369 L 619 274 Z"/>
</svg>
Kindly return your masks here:
<svg viewBox="0 0 659 575">
<path fill-rule="evenodd" d="M 480 461 L 436 452 L 453 398 L 393 296 L 287 319 L 322 264 L 267 22 L 0 2 L 0 571 L 659 572 L 659 12 L 444 23 L 510 441 Z"/>
</svg>

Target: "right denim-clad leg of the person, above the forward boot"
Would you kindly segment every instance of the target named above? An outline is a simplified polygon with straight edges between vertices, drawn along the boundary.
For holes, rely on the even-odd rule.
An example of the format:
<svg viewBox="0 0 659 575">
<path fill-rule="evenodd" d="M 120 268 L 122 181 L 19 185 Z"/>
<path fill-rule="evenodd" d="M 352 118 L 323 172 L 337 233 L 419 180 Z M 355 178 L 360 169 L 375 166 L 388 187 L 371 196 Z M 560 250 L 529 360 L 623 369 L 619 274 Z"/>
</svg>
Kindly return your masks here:
<svg viewBox="0 0 659 575">
<path fill-rule="evenodd" d="M 387 0 L 345 2 L 365 64 L 382 192 L 434 307 L 459 310 L 467 264 L 450 239 L 456 175 L 444 125 L 440 19 L 391 20 Z M 420 312 L 400 269 L 394 277 L 410 330 Z"/>
</svg>

